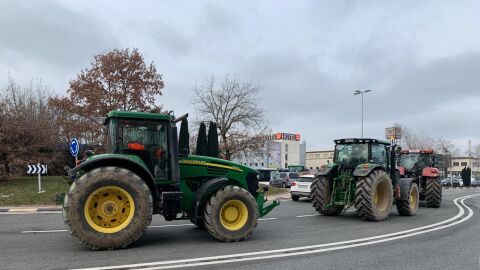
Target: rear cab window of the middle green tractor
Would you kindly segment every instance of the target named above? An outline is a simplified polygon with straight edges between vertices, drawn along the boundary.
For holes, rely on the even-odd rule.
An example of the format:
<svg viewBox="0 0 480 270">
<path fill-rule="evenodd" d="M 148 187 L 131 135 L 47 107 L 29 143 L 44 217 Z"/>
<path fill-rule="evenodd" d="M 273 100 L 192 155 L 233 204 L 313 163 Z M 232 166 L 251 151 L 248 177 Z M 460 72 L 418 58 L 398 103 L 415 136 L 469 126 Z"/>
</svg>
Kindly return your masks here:
<svg viewBox="0 0 480 270">
<path fill-rule="evenodd" d="M 346 168 L 354 168 L 365 163 L 368 161 L 368 144 L 337 144 L 334 161 Z"/>
</svg>

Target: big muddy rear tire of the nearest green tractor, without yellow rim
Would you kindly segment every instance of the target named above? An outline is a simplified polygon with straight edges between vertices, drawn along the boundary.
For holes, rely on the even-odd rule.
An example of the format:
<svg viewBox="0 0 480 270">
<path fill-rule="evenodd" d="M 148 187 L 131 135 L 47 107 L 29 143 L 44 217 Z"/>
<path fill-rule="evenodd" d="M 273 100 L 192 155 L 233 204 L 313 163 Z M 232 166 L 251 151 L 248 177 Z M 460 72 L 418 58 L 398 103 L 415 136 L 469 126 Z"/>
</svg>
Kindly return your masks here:
<svg viewBox="0 0 480 270">
<path fill-rule="evenodd" d="M 123 189 L 131 196 L 134 203 L 133 216 L 126 223 L 126 227 L 118 232 L 101 232 L 94 229 L 87 221 L 85 211 L 88 210 L 85 208 L 88 207 L 86 204 L 88 198 L 106 187 Z M 122 199 L 119 198 L 119 200 Z M 127 203 L 130 201 L 128 200 Z M 125 210 L 121 211 L 123 213 Z M 115 212 L 118 211 L 115 210 Z M 152 220 L 152 214 L 153 200 L 148 186 L 135 173 L 118 167 L 97 168 L 82 175 L 70 186 L 63 204 L 63 218 L 68 231 L 92 250 L 112 250 L 129 246 L 145 233 Z M 92 220 L 93 218 L 90 222 L 93 222 Z"/>
</svg>

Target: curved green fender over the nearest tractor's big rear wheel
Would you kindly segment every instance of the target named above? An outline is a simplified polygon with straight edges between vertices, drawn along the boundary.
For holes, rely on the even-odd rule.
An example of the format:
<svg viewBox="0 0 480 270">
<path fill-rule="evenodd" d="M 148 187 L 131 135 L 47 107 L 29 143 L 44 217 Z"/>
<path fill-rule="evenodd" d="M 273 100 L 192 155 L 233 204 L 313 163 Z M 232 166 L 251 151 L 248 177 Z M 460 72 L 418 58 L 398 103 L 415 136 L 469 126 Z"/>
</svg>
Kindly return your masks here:
<svg viewBox="0 0 480 270">
<path fill-rule="evenodd" d="M 150 173 L 150 171 L 148 171 L 148 169 L 145 168 L 145 166 L 142 166 L 132 161 L 129 158 L 124 158 L 121 156 L 116 156 L 116 157 L 108 156 L 108 157 L 98 157 L 95 159 L 87 160 L 85 162 L 80 163 L 80 165 L 78 165 L 77 167 L 71 169 L 68 172 L 68 175 L 73 176 L 80 171 L 88 172 L 99 167 L 107 167 L 107 166 L 124 168 L 137 174 L 143 181 L 145 181 L 148 188 L 150 189 L 154 205 L 158 205 L 158 203 L 160 202 L 160 194 L 158 192 L 157 187 L 155 186 L 155 178 Z M 154 207 L 155 213 L 158 213 L 157 210 L 158 210 L 157 207 Z"/>
</svg>

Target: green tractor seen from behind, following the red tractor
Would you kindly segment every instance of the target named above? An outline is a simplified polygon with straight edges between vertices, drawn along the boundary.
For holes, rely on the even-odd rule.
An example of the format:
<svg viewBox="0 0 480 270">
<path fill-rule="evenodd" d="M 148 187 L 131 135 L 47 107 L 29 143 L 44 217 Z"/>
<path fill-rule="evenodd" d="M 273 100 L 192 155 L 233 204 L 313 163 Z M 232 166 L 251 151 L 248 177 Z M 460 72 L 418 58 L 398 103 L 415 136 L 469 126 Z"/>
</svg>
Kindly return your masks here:
<svg viewBox="0 0 480 270">
<path fill-rule="evenodd" d="M 415 215 L 418 186 L 400 178 L 395 167 L 399 151 L 376 139 L 335 140 L 333 163 L 322 167 L 312 183 L 313 207 L 324 216 L 335 216 L 354 205 L 364 220 L 382 221 L 395 200 L 400 215 Z"/>
</svg>

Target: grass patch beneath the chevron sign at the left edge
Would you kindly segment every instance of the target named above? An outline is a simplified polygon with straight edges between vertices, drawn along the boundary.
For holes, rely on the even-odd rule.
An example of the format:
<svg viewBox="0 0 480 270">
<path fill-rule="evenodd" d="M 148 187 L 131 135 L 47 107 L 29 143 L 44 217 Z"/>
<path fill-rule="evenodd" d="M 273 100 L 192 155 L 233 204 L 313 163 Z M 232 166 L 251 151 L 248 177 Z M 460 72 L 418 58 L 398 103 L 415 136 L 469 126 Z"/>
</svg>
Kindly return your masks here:
<svg viewBox="0 0 480 270">
<path fill-rule="evenodd" d="M 0 206 L 59 204 L 56 195 L 66 193 L 69 186 L 66 176 L 42 176 L 43 193 L 38 193 L 37 176 L 0 181 Z"/>
</svg>

